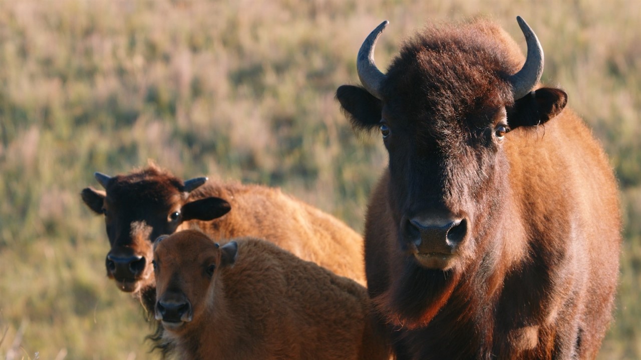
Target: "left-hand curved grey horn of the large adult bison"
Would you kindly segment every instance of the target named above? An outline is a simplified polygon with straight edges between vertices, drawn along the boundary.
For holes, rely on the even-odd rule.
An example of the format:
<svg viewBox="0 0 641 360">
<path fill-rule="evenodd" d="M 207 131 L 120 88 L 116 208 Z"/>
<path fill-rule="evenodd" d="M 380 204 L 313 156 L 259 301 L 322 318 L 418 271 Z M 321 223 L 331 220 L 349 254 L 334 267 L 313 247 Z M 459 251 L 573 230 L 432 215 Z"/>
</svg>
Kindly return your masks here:
<svg viewBox="0 0 641 360">
<path fill-rule="evenodd" d="M 381 99 L 380 88 L 381 83 L 383 83 L 385 79 L 385 74 L 378 70 L 376 63 L 374 63 L 374 47 L 376 46 L 376 40 L 378 40 L 378 37 L 383 33 L 383 29 L 385 29 L 389 23 L 387 20 L 381 22 L 381 24 L 365 38 L 363 45 L 361 45 L 360 50 L 358 50 L 358 57 L 356 58 L 358 78 L 365 90 L 377 99 Z"/>
</svg>

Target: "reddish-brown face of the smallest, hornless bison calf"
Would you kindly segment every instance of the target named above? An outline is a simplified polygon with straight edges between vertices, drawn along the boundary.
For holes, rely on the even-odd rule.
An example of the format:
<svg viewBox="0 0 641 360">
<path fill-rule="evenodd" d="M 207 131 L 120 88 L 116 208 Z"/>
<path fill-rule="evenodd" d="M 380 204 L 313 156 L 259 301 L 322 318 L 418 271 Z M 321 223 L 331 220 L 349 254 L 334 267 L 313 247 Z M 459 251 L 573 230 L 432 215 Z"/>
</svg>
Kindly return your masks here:
<svg viewBox="0 0 641 360">
<path fill-rule="evenodd" d="M 199 231 L 179 231 L 161 236 L 154 243 L 156 274 L 156 320 L 171 332 L 197 326 L 213 293 L 220 291 L 221 268 L 235 262 L 238 245 L 230 241 L 219 247 Z"/>
</svg>

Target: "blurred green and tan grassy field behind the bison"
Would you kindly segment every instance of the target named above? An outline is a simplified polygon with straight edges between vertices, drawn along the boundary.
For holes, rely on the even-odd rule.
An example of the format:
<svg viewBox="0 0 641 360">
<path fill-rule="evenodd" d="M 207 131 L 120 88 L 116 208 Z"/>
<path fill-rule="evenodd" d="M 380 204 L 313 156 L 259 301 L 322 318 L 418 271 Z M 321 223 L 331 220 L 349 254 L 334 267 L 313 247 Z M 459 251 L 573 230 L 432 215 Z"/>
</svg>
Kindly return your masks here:
<svg viewBox="0 0 641 360">
<path fill-rule="evenodd" d="M 428 20 L 497 20 L 545 49 L 620 181 L 625 242 L 600 358 L 641 358 L 640 1 L 0 1 L 0 357 L 147 359 L 142 309 L 104 274 L 80 200 L 148 158 L 181 177 L 281 186 L 358 231 L 387 163 L 334 92 L 383 19 L 384 69 Z"/>
</svg>

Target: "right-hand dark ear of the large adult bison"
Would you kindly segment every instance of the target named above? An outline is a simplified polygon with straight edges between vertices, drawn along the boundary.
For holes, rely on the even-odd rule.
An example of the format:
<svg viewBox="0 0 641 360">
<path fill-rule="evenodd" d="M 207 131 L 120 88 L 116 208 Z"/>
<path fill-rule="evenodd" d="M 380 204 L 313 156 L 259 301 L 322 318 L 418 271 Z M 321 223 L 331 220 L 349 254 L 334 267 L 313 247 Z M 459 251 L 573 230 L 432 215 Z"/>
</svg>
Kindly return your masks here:
<svg viewBox="0 0 641 360">
<path fill-rule="evenodd" d="M 508 125 L 515 129 L 545 124 L 558 115 L 566 104 L 567 94 L 563 90 L 540 88 L 515 102 L 512 115 L 508 115 Z"/>
</svg>

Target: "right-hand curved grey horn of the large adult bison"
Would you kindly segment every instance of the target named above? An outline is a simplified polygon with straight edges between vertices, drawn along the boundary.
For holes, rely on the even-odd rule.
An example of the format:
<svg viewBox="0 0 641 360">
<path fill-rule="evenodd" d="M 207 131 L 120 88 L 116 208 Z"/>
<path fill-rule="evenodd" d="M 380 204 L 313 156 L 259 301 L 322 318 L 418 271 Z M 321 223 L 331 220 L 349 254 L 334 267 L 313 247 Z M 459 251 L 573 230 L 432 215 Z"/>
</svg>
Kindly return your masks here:
<svg viewBox="0 0 641 360">
<path fill-rule="evenodd" d="M 519 72 L 510 76 L 510 83 L 512 84 L 515 100 L 528 95 L 534 86 L 537 85 L 543 74 L 544 61 L 543 47 L 541 47 L 540 42 L 538 42 L 537 35 L 522 17 L 517 16 L 517 22 L 519 22 L 521 31 L 523 31 L 526 43 L 528 44 L 528 57 Z"/>
</svg>

